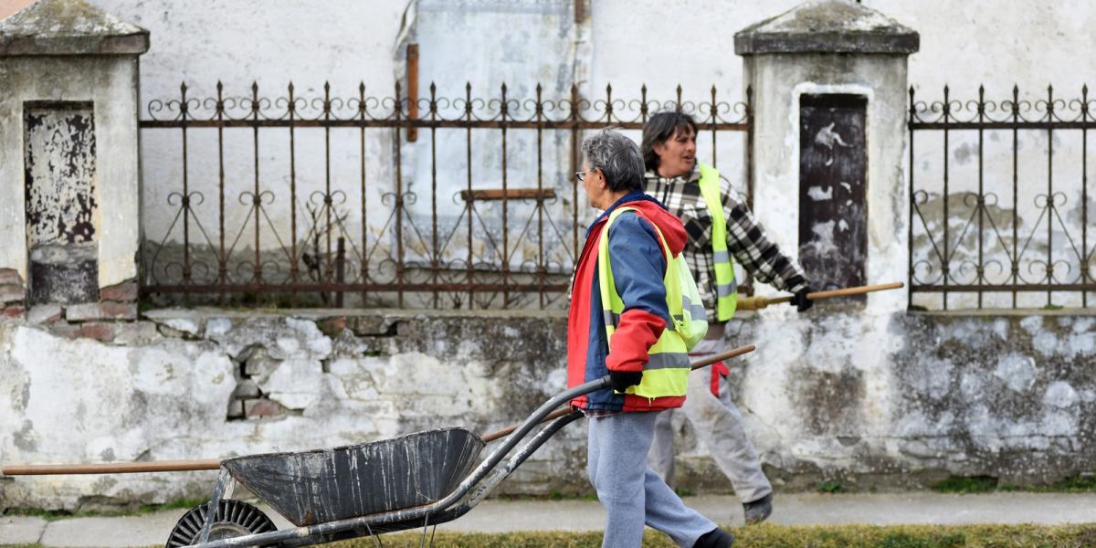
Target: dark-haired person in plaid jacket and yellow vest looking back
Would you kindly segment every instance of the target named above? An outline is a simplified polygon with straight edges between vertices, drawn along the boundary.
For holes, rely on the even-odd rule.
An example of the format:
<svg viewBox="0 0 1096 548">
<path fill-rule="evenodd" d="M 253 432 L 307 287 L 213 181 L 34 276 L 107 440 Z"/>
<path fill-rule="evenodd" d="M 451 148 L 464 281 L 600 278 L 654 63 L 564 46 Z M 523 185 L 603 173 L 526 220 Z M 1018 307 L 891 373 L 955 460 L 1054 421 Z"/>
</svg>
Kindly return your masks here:
<svg viewBox="0 0 1096 548">
<path fill-rule="evenodd" d="M 720 179 L 719 172 L 696 161 L 696 122 L 677 112 L 651 116 L 643 126 L 640 147 L 646 167 L 644 191 L 658 198 L 685 226 L 688 241 L 684 256 L 693 271 L 705 308 L 708 336 L 693 349 L 693 356 L 723 350 L 724 328 L 734 315 L 738 298 L 734 265 L 738 261 L 758 282 L 792 293 L 800 312 L 812 302 L 809 283 L 796 261 L 768 240 L 750 209 Z M 761 523 L 773 512 L 773 487 L 742 427 L 742 414 L 730 399 L 723 364 L 689 375 L 688 398 L 682 411 L 719 469 L 731 480 L 742 501 L 746 524 Z M 659 416 L 650 465 L 670 484 L 674 478 L 672 412 Z"/>
</svg>

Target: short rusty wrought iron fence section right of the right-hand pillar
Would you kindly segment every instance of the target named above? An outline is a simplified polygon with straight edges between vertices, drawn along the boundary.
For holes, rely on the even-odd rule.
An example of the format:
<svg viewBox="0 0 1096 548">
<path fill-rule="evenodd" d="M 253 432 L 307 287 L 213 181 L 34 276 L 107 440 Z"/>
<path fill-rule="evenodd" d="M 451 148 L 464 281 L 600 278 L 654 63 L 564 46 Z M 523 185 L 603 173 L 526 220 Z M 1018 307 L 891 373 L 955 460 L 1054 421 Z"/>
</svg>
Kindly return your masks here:
<svg viewBox="0 0 1096 548">
<path fill-rule="evenodd" d="M 910 88 L 911 308 L 1088 306 L 1092 105 L 1087 87 L 931 102 Z"/>
</svg>

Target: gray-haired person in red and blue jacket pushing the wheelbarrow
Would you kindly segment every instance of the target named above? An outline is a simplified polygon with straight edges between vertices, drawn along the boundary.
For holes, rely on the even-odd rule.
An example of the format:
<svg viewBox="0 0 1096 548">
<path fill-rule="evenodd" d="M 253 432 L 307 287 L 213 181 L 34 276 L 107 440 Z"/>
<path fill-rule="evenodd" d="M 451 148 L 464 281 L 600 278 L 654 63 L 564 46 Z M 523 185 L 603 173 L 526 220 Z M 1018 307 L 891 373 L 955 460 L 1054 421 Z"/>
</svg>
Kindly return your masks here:
<svg viewBox="0 0 1096 548">
<path fill-rule="evenodd" d="M 607 513 L 602 546 L 636 548 L 646 524 L 677 546 L 730 547 L 730 533 L 685 506 L 647 466 L 659 412 L 685 401 L 689 361 L 681 335 L 666 329 L 663 279 L 685 229 L 643 194 L 643 161 L 630 139 L 603 130 L 582 153 L 576 176 L 605 212 L 586 231 L 571 286 L 567 367 L 571 387 L 612 379 L 612 388 L 571 402 L 590 423 L 587 473 Z"/>
</svg>

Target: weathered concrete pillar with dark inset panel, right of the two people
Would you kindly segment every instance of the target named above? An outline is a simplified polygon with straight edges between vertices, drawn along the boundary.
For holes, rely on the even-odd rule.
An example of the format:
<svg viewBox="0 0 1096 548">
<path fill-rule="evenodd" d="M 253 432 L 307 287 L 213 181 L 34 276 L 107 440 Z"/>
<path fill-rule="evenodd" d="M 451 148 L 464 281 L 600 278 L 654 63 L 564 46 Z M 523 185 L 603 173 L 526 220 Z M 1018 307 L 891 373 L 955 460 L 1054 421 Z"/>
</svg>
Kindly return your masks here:
<svg viewBox="0 0 1096 548">
<path fill-rule="evenodd" d="M 754 209 L 817 289 L 906 279 L 906 58 L 918 44 L 852 0 L 811 0 L 734 36 L 753 90 Z M 867 299 L 904 304 L 904 292 Z"/>
</svg>

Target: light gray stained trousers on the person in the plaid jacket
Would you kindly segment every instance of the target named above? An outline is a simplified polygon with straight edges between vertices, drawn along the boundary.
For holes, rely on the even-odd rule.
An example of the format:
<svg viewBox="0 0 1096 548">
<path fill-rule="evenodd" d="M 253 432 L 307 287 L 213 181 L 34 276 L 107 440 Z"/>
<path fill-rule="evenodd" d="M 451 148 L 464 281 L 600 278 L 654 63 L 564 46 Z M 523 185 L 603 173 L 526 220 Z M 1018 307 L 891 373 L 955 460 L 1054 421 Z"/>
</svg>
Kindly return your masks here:
<svg viewBox="0 0 1096 548">
<path fill-rule="evenodd" d="M 712 326 L 717 328 L 717 326 Z M 705 339 L 689 352 L 690 359 L 722 352 L 722 329 L 718 338 Z M 678 410 L 693 424 L 697 437 L 708 447 L 716 466 L 730 480 L 743 502 L 753 502 L 773 492 L 761 469 L 761 459 L 742 427 L 742 413 L 731 401 L 727 379 L 720 379 L 719 397 L 711 393 L 711 369 L 689 373 L 685 404 Z M 664 411 L 654 425 L 654 442 L 648 463 L 666 483 L 674 484 L 674 411 Z"/>
</svg>

